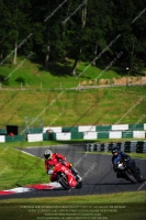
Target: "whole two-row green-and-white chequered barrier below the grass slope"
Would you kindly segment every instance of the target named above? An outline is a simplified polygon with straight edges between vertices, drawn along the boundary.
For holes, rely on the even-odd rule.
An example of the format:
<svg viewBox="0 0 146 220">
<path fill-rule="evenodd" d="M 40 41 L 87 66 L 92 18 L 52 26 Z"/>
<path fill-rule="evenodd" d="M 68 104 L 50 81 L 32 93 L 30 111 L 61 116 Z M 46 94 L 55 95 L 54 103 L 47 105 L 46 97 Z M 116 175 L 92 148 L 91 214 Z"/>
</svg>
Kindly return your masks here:
<svg viewBox="0 0 146 220">
<path fill-rule="evenodd" d="M 3 133 L 4 132 L 4 133 Z M 45 127 L 26 128 L 25 135 L 7 135 L 0 130 L 0 143 L 23 140 L 98 140 L 98 139 L 146 139 L 146 123 L 143 124 L 113 124 L 113 125 L 80 125 L 80 127 Z"/>
</svg>

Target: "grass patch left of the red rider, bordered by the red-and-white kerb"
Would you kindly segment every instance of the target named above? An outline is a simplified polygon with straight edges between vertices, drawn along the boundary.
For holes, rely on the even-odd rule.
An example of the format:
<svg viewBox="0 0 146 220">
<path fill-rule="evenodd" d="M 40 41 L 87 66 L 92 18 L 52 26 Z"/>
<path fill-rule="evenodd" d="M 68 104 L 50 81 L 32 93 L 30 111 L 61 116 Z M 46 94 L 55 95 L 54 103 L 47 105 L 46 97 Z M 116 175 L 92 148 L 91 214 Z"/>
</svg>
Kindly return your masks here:
<svg viewBox="0 0 146 220">
<path fill-rule="evenodd" d="M 0 148 L 0 189 L 48 182 L 43 160 L 10 146 Z"/>
</svg>

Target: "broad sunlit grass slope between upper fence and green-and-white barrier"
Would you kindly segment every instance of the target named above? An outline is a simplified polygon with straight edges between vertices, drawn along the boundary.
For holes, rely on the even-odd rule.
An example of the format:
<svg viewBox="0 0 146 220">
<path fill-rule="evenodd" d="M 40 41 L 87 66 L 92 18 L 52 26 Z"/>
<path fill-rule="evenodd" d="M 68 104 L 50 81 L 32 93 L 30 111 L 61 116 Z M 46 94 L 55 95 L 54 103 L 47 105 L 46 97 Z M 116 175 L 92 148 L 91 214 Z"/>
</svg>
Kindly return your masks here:
<svg viewBox="0 0 146 220">
<path fill-rule="evenodd" d="M 7 124 L 24 127 L 25 117 L 34 119 L 34 128 L 40 127 L 41 119 L 45 127 L 145 123 L 145 94 L 146 87 L 61 92 L 1 90 L 1 129 Z"/>
</svg>

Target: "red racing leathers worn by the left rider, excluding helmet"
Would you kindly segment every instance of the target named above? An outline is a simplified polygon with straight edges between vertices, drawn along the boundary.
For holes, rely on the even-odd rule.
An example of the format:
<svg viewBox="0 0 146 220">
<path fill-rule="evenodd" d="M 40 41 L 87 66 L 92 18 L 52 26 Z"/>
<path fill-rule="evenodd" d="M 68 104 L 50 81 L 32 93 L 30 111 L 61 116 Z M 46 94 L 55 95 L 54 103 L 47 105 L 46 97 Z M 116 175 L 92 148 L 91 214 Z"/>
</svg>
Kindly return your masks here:
<svg viewBox="0 0 146 220">
<path fill-rule="evenodd" d="M 46 167 L 47 174 L 49 174 L 48 172 L 52 170 L 52 168 L 59 162 L 59 160 L 64 161 L 65 166 L 67 166 L 68 168 L 71 168 L 71 164 L 65 162 L 66 161 L 65 156 L 63 156 L 61 154 L 58 154 L 58 153 L 54 153 L 52 155 L 52 158 L 45 161 L 45 167 Z M 52 174 L 50 175 L 50 182 L 54 182 L 54 177 L 55 177 L 55 175 Z"/>
</svg>

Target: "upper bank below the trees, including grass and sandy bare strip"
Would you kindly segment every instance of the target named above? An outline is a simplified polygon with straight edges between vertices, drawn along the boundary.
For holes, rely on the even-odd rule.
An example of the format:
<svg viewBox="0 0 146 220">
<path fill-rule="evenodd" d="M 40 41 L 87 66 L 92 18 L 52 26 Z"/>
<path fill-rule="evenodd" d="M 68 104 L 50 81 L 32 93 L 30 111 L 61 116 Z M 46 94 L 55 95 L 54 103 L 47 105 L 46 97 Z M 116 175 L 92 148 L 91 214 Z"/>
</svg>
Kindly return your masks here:
<svg viewBox="0 0 146 220">
<path fill-rule="evenodd" d="M 16 65 L 4 64 L 0 66 L 1 88 L 23 89 L 65 89 L 80 86 L 98 85 L 146 85 L 145 73 L 127 75 L 124 67 L 109 67 L 106 65 L 98 68 L 90 63 L 79 62 L 77 77 L 69 75 L 72 59 L 66 63 L 50 64 L 44 69 L 41 64 L 33 63 L 24 57 L 18 58 Z"/>
</svg>

